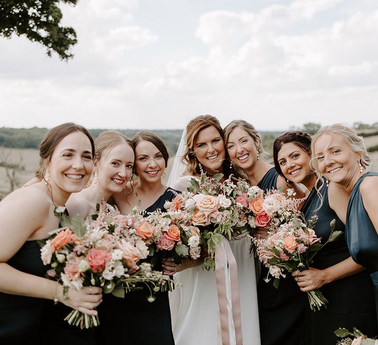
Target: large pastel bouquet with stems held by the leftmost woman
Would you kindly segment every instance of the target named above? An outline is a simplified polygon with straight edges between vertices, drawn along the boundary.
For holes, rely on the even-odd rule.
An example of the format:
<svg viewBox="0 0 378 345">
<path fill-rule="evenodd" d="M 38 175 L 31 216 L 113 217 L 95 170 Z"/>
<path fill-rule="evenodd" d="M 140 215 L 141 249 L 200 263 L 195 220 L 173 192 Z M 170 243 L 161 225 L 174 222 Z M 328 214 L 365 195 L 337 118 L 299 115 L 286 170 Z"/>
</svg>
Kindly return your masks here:
<svg viewBox="0 0 378 345">
<path fill-rule="evenodd" d="M 124 297 L 126 292 L 141 289 L 147 285 L 151 292 L 159 291 L 169 279 L 161 272 L 152 270 L 149 263 L 139 263 L 148 255 L 143 241 L 135 241 L 122 229 L 135 226 L 135 218 L 120 217 L 106 205 L 101 205 L 98 215 L 83 219 L 80 215 L 69 218 L 63 214 L 64 207 L 57 207 L 55 214 L 60 217 L 62 228 L 50 233 L 42 242 L 41 258 L 50 265 L 46 276 L 63 283 L 63 296 L 68 288 L 98 286 L 103 293 Z M 65 320 L 81 328 L 99 324 L 98 316 L 71 311 Z"/>
</svg>

